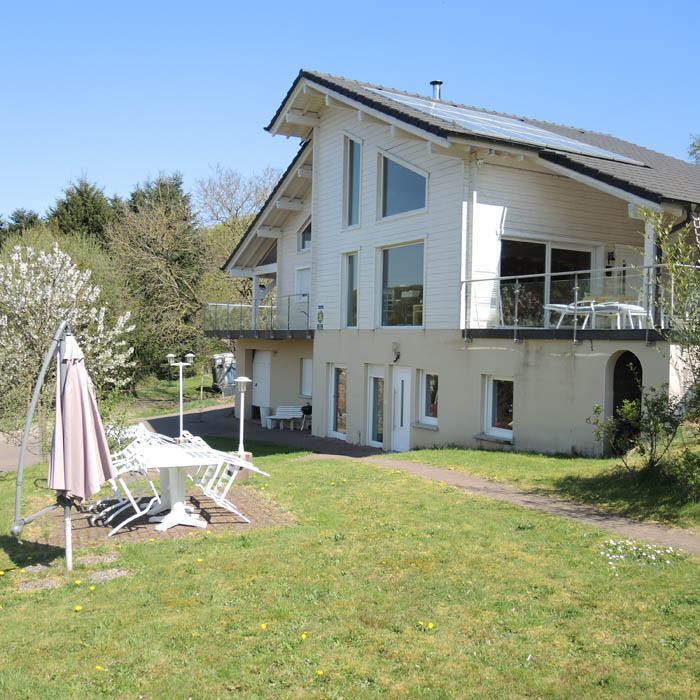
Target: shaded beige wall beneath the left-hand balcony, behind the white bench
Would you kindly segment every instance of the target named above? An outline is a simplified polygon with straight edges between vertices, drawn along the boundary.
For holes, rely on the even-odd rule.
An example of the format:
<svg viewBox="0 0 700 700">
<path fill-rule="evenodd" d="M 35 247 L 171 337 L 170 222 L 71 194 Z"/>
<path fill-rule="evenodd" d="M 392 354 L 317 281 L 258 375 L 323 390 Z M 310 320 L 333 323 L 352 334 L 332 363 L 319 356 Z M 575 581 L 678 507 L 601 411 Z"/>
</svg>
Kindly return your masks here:
<svg viewBox="0 0 700 700">
<path fill-rule="evenodd" d="M 313 357 L 311 340 L 259 340 L 241 339 L 236 341 L 236 373 L 253 378 L 253 357 L 256 350 L 270 350 L 270 404 L 277 406 L 301 406 L 309 398 L 299 394 L 301 388 L 301 358 Z M 240 400 L 236 401 L 240 405 Z M 238 410 L 236 409 L 238 416 Z M 246 395 L 245 417 L 252 416 L 250 389 Z"/>
</svg>

